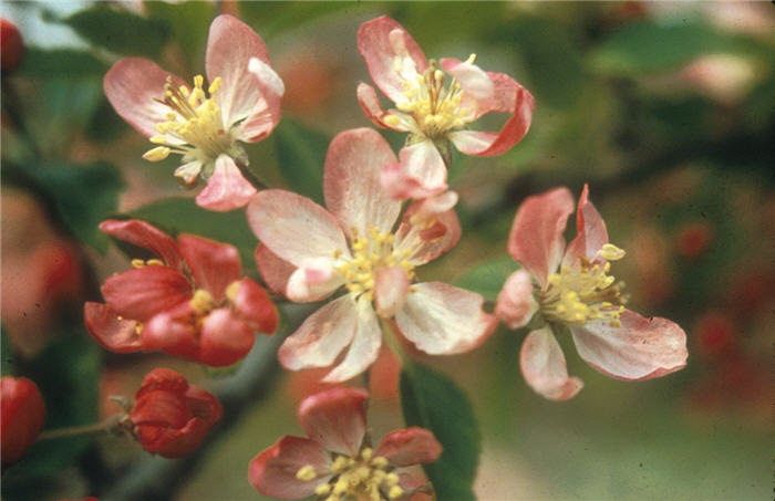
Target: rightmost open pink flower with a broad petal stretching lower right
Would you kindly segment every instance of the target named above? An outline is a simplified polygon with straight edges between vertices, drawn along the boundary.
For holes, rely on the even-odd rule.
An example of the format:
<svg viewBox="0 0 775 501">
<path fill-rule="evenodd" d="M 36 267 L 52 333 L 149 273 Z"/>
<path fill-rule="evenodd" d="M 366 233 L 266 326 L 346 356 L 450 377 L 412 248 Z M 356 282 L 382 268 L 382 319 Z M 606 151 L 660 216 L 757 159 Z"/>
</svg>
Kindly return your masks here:
<svg viewBox="0 0 775 501">
<path fill-rule="evenodd" d="M 576 212 L 578 234 L 567 248 L 562 233 L 574 211 L 570 191 L 556 188 L 523 202 L 508 251 L 524 269 L 508 278 L 495 309 L 512 328 L 534 320 L 521 347 L 521 370 L 533 389 L 554 400 L 570 398 L 582 386 L 568 376 L 555 338 L 562 325 L 581 358 L 617 379 L 651 379 L 686 365 L 686 335 L 678 324 L 624 309 L 621 286 L 609 274 L 609 261 L 624 251 L 608 242 L 588 192 L 585 186 Z"/>
</svg>

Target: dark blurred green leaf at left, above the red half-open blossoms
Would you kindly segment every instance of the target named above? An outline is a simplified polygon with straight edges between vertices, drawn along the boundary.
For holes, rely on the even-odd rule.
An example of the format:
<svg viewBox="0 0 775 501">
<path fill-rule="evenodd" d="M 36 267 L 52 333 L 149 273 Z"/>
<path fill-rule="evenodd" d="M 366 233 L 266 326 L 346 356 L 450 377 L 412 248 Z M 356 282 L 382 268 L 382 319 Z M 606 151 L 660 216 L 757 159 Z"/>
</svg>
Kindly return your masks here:
<svg viewBox="0 0 775 501">
<path fill-rule="evenodd" d="M 107 248 L 107 237 L 97 228 L 115 211 L 124 187 L 118 170 L 96 161 L 86 166 L 65 163 L 40 163 L 10 170 L 11 179 L 31 184 L 51 201 L 62 222 L 100 252 Z M 17 176 L 18 175 L 18 176 Z"/>
</svg>

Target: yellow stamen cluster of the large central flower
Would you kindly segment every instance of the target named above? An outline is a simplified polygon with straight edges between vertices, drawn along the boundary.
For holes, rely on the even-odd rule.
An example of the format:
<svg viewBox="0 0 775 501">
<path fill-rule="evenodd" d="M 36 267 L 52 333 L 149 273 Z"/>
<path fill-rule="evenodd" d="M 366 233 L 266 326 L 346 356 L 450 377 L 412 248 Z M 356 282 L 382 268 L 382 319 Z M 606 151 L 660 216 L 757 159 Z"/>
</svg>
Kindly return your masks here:
<svg viewBox="0 0 775 501">
<path fill-rule="evenodd" d="M 352 259 L 342 259 L 340 252 L 334 252 L 334 259 L 342 259 L 337 267 L 344 278 L 344 286 L 350 292 L 365 294 L 371 301 L 374 299 L 374 280 L 376 272 L 383 267 L 401 267 L 406 271 L 411 281 L 414 279 L 414 264 L 409 261 L 410 250 L 399 251 L 393 248 L 395 234 L 380 232 L 378 228 L 369 228 L 369 234 L 360 237 L 355 228 L 352 229 Z"/>
</svg>

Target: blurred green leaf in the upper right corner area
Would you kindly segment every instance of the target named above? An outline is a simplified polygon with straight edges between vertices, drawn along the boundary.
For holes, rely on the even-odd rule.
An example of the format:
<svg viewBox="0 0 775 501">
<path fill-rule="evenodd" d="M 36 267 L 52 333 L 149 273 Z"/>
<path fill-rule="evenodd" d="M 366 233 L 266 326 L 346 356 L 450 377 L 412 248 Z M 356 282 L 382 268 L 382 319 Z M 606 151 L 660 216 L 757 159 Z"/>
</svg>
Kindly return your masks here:
<svg viewBox="0 0 775 501">
<path fill-rule="evenodd" d="M 673 70 L 703 54 L 752 48 L 744 39 L 702 23 L 643 21 L 623 27 L 602 42 L 592 53 L 592 63 L 603 73 L 634 75 Z"/>
</svg>

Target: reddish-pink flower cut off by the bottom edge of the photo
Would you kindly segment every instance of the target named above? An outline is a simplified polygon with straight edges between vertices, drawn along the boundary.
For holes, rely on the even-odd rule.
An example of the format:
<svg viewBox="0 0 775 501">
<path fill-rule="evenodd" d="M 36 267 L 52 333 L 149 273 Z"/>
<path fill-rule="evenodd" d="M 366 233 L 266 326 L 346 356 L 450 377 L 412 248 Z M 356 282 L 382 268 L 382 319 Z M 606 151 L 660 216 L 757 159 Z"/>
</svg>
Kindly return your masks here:
<svg viewBox="0 0 775 501">
<path fill-rule="evenodd" d="M 395 430 L 376 449 L 368 446 L 365 399 L 360 388 L 332 388 L 307 397 L 299 421 L 309 438 L 286 436 L 250 461 L 257 491 L 280 499 L 409 499 L 414 479 L 396 468 L 435 461 L 442 446 L 423 428 Z"/>
</svg>

